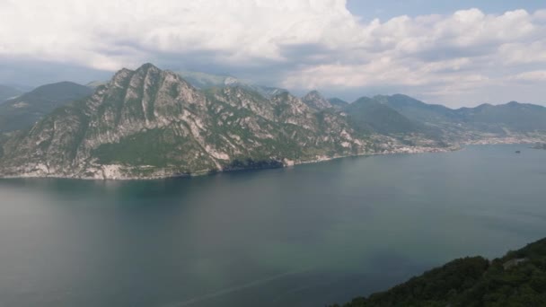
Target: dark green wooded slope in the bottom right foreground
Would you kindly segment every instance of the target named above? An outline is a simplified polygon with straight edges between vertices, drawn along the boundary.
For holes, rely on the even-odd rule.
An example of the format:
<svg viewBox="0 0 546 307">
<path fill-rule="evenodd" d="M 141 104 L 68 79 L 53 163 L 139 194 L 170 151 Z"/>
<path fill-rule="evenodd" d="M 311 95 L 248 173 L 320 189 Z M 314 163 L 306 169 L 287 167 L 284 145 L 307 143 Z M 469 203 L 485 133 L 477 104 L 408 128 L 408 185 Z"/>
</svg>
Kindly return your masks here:
<svg viewBox="0 0 546 307">
<path fill-rule="evenodd" d="M 341 306 L 546 306 L 546 239 L 492 261 L 456 259 Z"/>
</svg>

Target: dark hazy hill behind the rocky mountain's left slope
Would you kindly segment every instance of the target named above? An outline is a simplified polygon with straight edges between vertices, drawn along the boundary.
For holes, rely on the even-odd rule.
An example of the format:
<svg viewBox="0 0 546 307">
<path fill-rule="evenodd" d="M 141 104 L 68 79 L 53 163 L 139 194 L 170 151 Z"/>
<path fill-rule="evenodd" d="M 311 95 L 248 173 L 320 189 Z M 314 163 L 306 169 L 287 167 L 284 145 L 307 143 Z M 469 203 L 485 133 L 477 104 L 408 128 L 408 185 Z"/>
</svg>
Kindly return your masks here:
<svg viewBox="0 0 546 307">
<path fill-rule="evenodd" d="M 40 86 L 0 105 L 0 131 L 30 127 L 57 107 L 91 94 L 92 89 L 71 82 Z"/>
</svg>

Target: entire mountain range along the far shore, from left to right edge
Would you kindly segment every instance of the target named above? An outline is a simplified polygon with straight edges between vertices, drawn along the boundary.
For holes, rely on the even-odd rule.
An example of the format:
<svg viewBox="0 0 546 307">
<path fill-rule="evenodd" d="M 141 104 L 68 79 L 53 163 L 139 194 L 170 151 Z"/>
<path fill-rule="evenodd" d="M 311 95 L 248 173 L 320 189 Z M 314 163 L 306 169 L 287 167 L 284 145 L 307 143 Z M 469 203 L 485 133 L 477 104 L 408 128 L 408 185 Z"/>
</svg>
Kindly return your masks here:
<svg viewBox="0 0 546 307">
<path fill-rule="evenodd" d="M 404 95 L 298 98 L 151 64 L 95 86 L 50 84 L 0 106 L 0 129 L 22 129 L 0 137 L 0 176 L 162 178 L 546 136 L 546 108 L 517 102 L 451 110 Z"/>
</svg>

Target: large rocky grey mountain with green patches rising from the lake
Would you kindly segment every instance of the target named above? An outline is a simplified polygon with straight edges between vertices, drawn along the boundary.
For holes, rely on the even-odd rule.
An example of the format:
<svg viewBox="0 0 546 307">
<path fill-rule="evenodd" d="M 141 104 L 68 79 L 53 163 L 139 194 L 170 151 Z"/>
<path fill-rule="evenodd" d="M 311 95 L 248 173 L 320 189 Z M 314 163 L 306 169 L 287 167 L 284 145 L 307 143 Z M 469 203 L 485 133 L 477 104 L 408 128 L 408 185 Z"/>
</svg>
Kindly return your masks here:
<svg viewBox="0 0 546 307">
<path fill-rule="evenodd" d="M 119 71 L 88 99 L 1 139 L 0 175 L 160 178 L 401 146 L 388 136 L 358 133 L 345 113 L 323 107 L 287 92 L 266 98 L 242 87 L 199 91 L 146 64 Z"/>
</svg>

